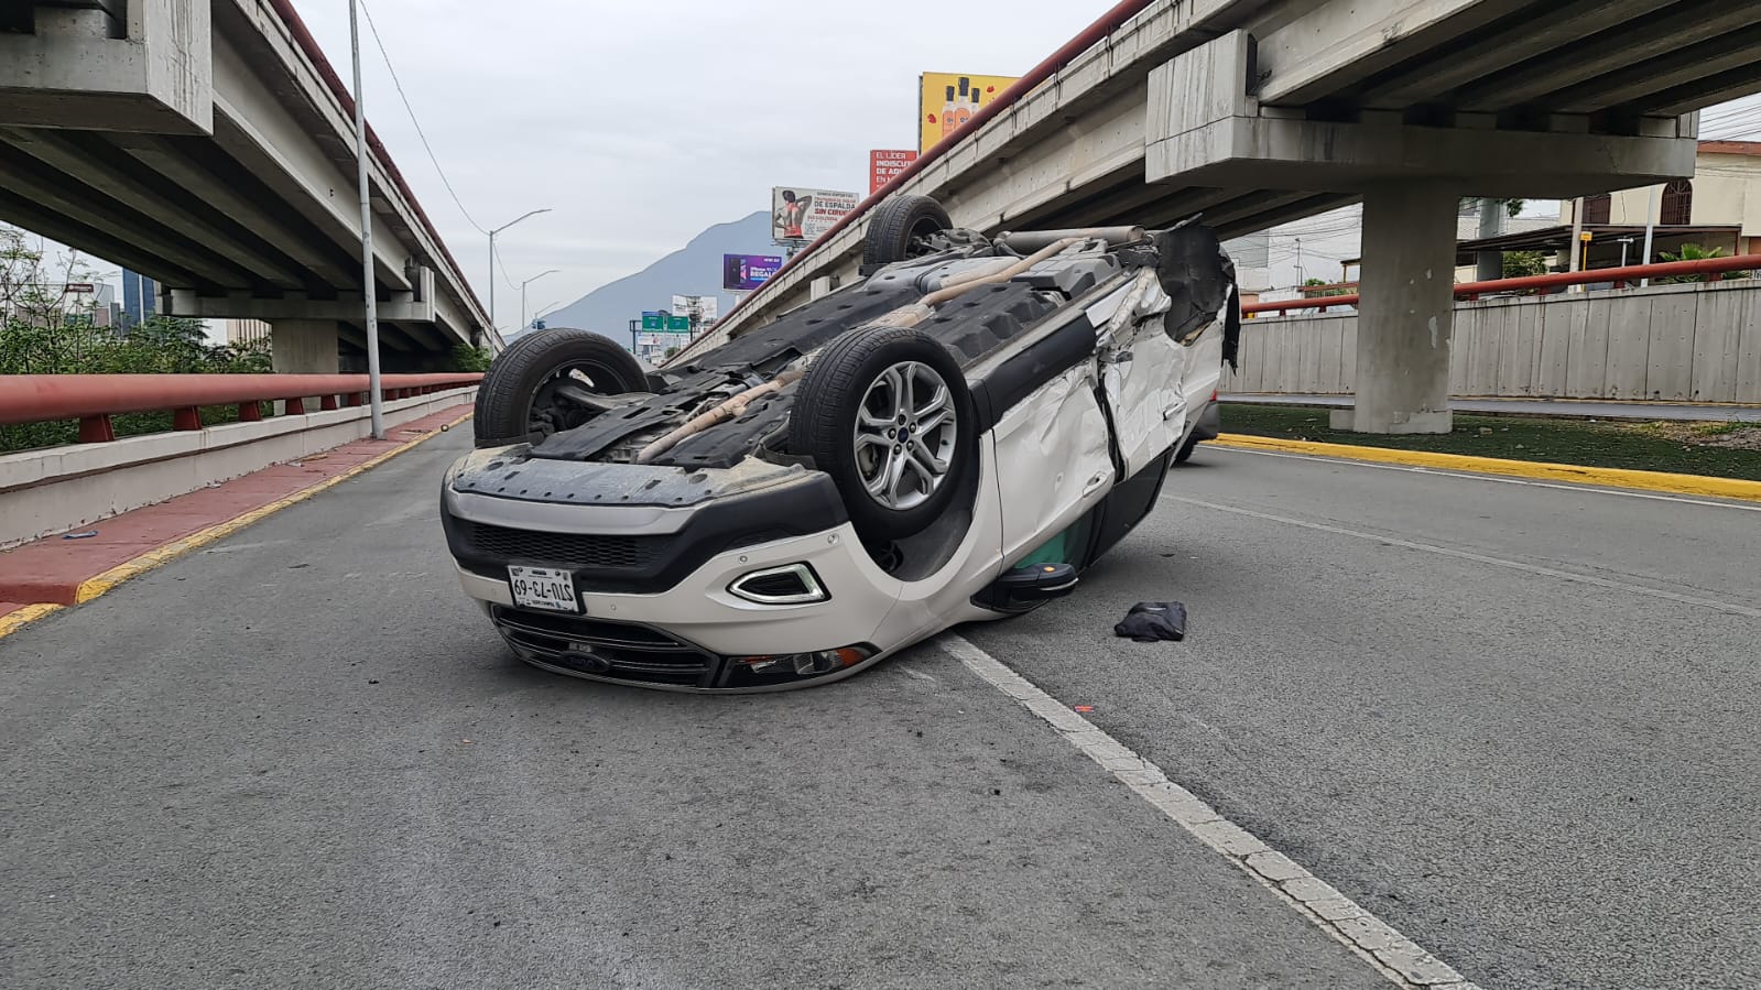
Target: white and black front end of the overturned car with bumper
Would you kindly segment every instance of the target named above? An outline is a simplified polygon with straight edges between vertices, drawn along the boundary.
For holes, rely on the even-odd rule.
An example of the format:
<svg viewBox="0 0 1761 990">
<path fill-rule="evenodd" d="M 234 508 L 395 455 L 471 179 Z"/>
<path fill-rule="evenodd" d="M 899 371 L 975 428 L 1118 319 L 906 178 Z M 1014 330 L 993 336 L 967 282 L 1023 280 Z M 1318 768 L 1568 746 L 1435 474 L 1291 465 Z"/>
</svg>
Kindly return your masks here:
<svg viewBox="0 0 1761 990">
<path fill-rule="evenodd" d="M 650 486 L 643 469 L 606 467 L 477 453 L 447 474 L 442 525 L 460 585 L 521 659 L 645 687 L 777 691 L 847 676 L 910 641 L 898 629 L 914 629 L 912 617 L 895 613 L 902 583 L 863 550 L 829 477 L 798 470 L 741 488 L 687 472 L 722 488 L 671 506 L 673 490 Z M 812 569 L 822 601 L 766 604 L 731 590 L 791 564 Z M 569 571 L 579 611 L 516 606 L 509 565 Z M 880 643 L 889 617 L 893 641 Z"/>
</svg>

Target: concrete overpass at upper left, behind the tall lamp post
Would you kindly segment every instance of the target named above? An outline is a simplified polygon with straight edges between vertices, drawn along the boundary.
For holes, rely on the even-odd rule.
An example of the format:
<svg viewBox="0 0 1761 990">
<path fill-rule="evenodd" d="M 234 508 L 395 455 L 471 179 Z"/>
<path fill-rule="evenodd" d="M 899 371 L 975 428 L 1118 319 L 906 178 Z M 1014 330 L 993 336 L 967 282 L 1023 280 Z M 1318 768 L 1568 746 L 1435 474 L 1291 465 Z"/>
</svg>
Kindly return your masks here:
<svg viewBox="0 0 1761 990">
<path fill-rule="evenodd" d="M 387 370 L 498 347 L 372 137 Z M 291 0 L 0 4 L 0 220 L 162 287 L 160 312 L 262 319 L 284 372 L 365 347 L 354 100 Z"/>
</svg>

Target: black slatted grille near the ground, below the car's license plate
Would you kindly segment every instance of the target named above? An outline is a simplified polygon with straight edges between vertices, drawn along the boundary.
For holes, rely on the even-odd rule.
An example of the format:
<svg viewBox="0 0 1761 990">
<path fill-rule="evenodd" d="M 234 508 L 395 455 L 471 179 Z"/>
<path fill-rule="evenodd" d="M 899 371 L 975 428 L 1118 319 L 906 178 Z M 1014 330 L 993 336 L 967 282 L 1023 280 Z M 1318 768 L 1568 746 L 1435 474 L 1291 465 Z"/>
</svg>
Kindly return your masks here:
<svg viewBox="0 0 1761 990">
<path fill-rule="evenodd" d="M 495 625 L 521 654 L 611 680 L 713 687 L 720 657 L 648 625 L 495 606 Z"/>
</svg>

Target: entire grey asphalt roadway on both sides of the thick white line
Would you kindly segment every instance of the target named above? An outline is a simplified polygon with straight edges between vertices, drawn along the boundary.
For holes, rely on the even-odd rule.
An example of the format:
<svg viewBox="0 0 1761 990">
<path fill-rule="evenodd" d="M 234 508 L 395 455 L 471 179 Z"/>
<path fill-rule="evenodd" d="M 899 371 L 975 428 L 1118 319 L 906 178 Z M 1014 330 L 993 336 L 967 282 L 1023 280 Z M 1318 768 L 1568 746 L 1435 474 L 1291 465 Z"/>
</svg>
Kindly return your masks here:
<svg viewBox="0 0 1761 990">
<path fill-rule="evenodd" d="M 0 639 L 4 986 L 1389 986 L 935 645 L 514 662 L 461 433 Z M 1761 513 L 1201 447 L 962 634 L 1481 986 L 1757 986 Z M 1187 602 L 1180 645 L 1111 624 Z"/>
</svg>

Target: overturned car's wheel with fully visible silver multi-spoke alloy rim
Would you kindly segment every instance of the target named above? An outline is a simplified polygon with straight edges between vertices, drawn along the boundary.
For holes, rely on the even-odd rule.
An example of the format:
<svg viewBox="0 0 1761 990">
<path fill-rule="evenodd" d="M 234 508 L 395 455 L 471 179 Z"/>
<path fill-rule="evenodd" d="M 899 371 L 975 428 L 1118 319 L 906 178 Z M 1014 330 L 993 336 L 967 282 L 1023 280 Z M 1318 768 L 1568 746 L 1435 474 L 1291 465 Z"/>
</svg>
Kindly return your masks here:
<svg viewBox="0 0 1761 990">
<path fill-rule="evenodd" d="M 909 409 L 902 382 L 910 382 Z M 808 368 L 789 447 L 831 476 L 863 539 L 905 539 L 933 523 L 976 469 L 976 423 L 946 347 L 917 329 L 875 326 L 838 336 Z"/>
</svg>

